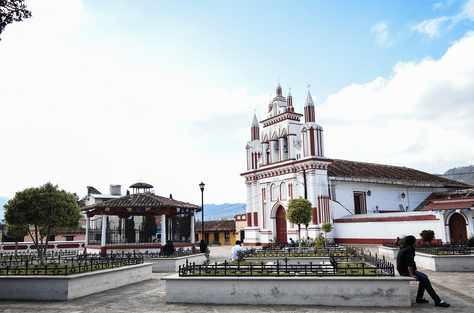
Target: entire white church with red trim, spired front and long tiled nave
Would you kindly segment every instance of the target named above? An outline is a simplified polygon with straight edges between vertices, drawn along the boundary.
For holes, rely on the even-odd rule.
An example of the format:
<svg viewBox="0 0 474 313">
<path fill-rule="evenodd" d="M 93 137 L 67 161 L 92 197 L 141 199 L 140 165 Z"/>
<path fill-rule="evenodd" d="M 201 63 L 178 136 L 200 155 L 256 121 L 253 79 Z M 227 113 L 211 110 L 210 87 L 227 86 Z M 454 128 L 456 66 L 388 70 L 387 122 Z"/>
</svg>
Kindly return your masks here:
<svg viewBox="0 0 474 313">
<path fill-rule="evenodd" d="M 246 171 L 240 174 L 248 199 L 244 245 L 297 239 L 298 225 L 285 219 L 288 200 L 295 197 L 313 205 L 311 238 L 327 222 L 333 224 L 328 238 L 346 244 L 381 244 L 403 234 L 418 238 L 424 229 L 445 242 L 458 229 L 461 237 L 474 232 L 474 201 L 465 201 L 474 200 L 473 186 L 405 167 L 326 157 L 309 91 L 303 115 L 295 112 L 291 93 L 283 97 L 278 83 L 266 119 L 259 122 L 254 115 L 250 139 Z M 425 210 L 429 197 L 449 192 L 461 197 L 455 209 Z M 456 225 L 449 224 L 453 214 L 460 215 L 452 219 L 459 221 Z"/>
</svg>

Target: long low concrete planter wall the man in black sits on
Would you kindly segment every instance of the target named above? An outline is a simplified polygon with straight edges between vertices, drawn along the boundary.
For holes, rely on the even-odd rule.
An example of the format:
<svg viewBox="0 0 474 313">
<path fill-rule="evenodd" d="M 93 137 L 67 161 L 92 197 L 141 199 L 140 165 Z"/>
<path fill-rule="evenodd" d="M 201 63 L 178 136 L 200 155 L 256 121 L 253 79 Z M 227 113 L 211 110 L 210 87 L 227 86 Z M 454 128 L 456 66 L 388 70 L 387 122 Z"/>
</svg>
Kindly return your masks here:
<svg viewBox="0 0 474 313">
<path fill-rule="evenodd" d="M 166 302 L 411 306 L 411 277 L 179 277 L 166 280 Z M 216 292 L 218 291 L 218 292 Z"/>
</svg>

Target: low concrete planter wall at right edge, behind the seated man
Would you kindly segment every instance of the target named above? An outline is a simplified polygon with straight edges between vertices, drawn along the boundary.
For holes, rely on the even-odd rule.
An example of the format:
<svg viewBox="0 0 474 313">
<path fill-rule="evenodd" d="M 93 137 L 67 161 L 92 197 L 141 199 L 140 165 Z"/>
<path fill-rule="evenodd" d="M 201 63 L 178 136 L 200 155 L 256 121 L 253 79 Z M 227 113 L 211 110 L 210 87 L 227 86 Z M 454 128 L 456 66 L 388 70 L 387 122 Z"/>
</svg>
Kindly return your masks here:
<svg viewBox="0 0 474 313">
<path fill-rule="evenodd" d="M 435 272 L 469 272 L 474 271 L 474 255 L 432 255 L 415 252 L 418 268 Z"/>
</svg>

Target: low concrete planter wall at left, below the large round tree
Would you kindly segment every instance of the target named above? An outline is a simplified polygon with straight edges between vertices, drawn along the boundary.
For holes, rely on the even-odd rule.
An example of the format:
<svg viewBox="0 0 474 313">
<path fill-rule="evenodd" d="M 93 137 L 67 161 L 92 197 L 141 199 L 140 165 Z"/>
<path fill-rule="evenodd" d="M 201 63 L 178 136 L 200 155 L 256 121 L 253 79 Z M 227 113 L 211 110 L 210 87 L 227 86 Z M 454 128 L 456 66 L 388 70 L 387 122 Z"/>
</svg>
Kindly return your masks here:
<svg viewBox="0 0 474 313">
<path fill-rule="evenodd" d="M 69 276 L 0 276 L 5 300 L 70 300 L 152 278 L 152 263 Z"/>
</svg>

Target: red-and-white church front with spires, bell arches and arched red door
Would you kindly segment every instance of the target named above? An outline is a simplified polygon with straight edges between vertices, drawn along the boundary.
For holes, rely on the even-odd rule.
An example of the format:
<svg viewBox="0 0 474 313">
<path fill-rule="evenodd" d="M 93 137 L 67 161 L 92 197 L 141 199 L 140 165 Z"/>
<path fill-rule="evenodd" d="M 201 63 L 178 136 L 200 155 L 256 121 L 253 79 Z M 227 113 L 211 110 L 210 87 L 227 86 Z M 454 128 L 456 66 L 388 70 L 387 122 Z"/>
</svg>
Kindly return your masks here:
<svg viewBox="0 0 474 313">
<path fill-rule="evenodd" d="M 327 170 L 332 160 L 324 156 L 323 129 L 315 123 L 309 91 L 304 107 L 305 122 L 301 123 L 303 115 L 294 112 L 291 93 L 283 97 L 278 84 L 267 118 L 259 123 L 254 115 L 251 141 L 246 144 L 247 170 L 240 174 L 248 199 L 244 245 L 298 237 L 298 225 L 286 221 L 284 212 L 288 200 L 305 197 L 303 170 L 307 199 L 313 204 L 308 235 L 317 237 L 321 224 L 331 221 Z"/>
</svg>

